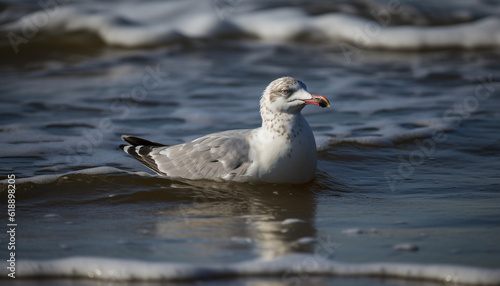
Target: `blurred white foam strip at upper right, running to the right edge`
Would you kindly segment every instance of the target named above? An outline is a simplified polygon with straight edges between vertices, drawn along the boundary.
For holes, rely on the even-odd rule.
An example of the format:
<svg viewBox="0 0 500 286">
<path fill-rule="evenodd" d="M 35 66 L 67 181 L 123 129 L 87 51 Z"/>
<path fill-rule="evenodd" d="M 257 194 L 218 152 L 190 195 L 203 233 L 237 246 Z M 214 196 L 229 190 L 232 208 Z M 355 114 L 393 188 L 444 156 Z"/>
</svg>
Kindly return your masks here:
<svg viewBox="0 0 500 286">
<path fill-rule="evenodd" d="M 500 45 L 500 19 L 485 18 L 450 26 L 384 27 L 377 22 L 343 14 L 327 14 L 313 20 L 314 26 L 330 40 L 344 40 L 358 48 L 443 49 L 481 48 Z"/>
</svg>

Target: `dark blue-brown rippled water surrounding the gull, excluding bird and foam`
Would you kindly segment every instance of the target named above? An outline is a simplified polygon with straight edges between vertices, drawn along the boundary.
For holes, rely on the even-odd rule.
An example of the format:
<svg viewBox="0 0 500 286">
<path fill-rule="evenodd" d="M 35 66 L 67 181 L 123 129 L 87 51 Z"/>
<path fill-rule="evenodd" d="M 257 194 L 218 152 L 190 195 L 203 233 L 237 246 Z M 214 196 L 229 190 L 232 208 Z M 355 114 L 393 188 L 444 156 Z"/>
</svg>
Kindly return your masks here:
<svg viewBox="0 0 500 286">
<path fill-rule="evenodd" d="M 29 1 L 5 3 L 4 31 L 21 23 L 12 22 L 21 17 L 14 18 L 15 11 L 36 9 Z M 271 274 L 243 274 L 257 263 L 206 283 L 414 283 L 406 276 L 366 280 L 309 272 L 330 262 L 354 263 L 358 270 L 371 262 L 493 268 L 498 277 L 499 44 L 470 36 L 463 39 L 469 49 L 443 34 L 439 47 L 405 46 L 428 39 L 434 27 L 469 23 L 476 29 L 474 23 L 494 18 L 498 7 L 479 1 L 454 2 L 454 9 L 405 4 L 383 28 L 428 30 L 408 32 L 399 47 L 371 49 L 335 35 L 319 40 L 318 31 L 329 27 L 319 17 L 337 21 L 329 13 L 340 13 L 362 21 L 370 19 L 370 9 L 387 8 L 384 1 L 352 3 L 298 2 L 294 10 L 279 1 L 240 3 L 226 6 L 222 16 L 217 7 L 188 9 L 189 3 L 174 1 L 68 3 L 51 18 L 59 24 L 40 27 L 17 54 L 1 42 L 0 173 L 2 179 L 16 176 L 19 277 L 24 268 L 26 277 L 56 279 L 45 280 L 47 285 L 94 283 L 82 275 L 98 278 L 86 272 L 88 260 L 68 263 L 74 274 L 63 275 L 57 264 L 64 264 L 62 258 L 137 262 L 132 269 L 174 263 L 165 266 L 172 271 L 186 263 L 191 273 L 199 264 L 231 268 L 289 256 L 289 267 Z M 170 18 L 161 17 L 169 11 Z M 287 30 L 258 30 L 248 19 L 264 28 L 283 19 Z M 387 33 L 377 36 L 391 39 L 390 31 L 381 31 Z M 109 42 L 110 35 L 121 44 Z M 124 48 L 127 38 L 133 44 Z M 356 50 L 346 53 L 342 43 Z M 117 147 L 122 134 L 175 144 L 255 128 L 262 90 L 282 75 L 299 78 L 332 103 L 330 109 L 303 110 L 319 150 L 310 184 L 174 182 L 148 175 Z M 2 193 L 7 205 L 6 181 Z M 7 221 L 5 213 L 1 218 Z M 8 236 L 0 239 L 0 256 L 8 258 Z M 401 250 L 401 244 L 418 250 Z M 51 265 L 47 259 L 55 259 L 54 273 L 30 272 L 30 265 Z M 102 271 L 114 269 L 113 262 L 102 265 Z M 161 276 L 148 273 L 144 280 Z M 115 282 L 131 282 L 123 275 Z M 69 280 L 58 279 L 63 276 Z M 193 274 L 187 280 L 204 279 Z"/>
</svg>

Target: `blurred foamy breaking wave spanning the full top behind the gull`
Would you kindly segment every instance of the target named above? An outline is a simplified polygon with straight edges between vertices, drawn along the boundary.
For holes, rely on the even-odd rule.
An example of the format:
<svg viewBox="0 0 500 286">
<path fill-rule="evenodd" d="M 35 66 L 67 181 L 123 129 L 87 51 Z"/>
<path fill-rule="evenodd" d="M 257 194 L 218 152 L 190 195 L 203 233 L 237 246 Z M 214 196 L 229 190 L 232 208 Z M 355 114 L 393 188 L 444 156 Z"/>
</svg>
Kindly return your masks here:
<svg viewBox="0 0 500 286">
<path fill-rule="evenodd" d="M 227 37 L 257 38 L 271 43 L 331 43 L 351 53 L 359 49 L 500 46 L 500 18 L 496 16 L 442 26 L 418 26 L 416 23 L 395 26 L 387 23 L 390 20 L 387 17 L 385 21 L 375 21 L 341 12 L 312 15 L 299 7 L 246 7 L 223 16 L 217 13 L 220 9 L 214 9 L 209 2 L 192 1 L 92 6 L 75 3 L 29 13 L 3 24 L 0 30 L 7 33 L 8 41 L 3 45 L 15 43 L 18 48 L 35 37 L 57 43 L 74 33 L 88 33 L 97 36 L 105 45 L 126 48 Z M 91 41 L 87 43 L 91 44 Z"/>
</svg>

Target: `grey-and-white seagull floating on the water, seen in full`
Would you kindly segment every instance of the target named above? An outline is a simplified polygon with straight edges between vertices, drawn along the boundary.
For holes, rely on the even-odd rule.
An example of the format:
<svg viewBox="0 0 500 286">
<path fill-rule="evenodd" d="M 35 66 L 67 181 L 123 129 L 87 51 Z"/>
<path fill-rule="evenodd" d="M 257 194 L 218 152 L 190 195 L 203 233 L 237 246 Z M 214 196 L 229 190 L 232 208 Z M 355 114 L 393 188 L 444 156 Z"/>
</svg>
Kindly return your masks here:
<svg viewBox="0 0 500 286">
<path fill-rule="evenodd" d="M 314 135 L 300 111 L 308 104 L 330 107 L 292 77 L 271 82 L 260 99 L 262 126 L 205 135 L 189 143 L 164 145 L 122 135 L 120 148 L 161 176 L 173 180 L 214 180 L 304 184 L 313 180 Z"/>
</svg>

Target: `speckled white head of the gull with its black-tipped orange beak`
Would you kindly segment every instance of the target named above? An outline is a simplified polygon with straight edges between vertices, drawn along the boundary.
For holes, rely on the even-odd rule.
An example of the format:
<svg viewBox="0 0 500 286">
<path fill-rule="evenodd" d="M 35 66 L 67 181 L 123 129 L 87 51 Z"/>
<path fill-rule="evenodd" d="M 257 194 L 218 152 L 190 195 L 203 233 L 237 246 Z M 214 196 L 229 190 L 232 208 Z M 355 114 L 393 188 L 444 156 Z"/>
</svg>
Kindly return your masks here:
<svg viewBox="0 0 500 286">
<path fill-rule="evenodd" d="M 307 104 L 330 107 L 326 97 L 309 93 L 303 82 L 289 76 L 271 82 L 261 99 L 261 106 L 278 113 L 299 113 Z"/>
</svg>

